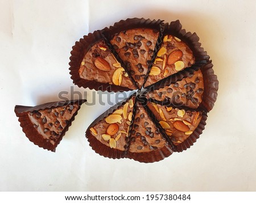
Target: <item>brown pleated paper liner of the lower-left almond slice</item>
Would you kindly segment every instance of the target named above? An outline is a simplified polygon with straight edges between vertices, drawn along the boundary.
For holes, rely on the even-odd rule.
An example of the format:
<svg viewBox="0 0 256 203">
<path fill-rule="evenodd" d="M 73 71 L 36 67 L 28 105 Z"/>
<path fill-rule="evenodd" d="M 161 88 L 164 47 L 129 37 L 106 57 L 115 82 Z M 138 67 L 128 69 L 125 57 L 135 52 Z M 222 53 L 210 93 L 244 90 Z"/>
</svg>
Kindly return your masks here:
<svg viewBox="0 0 256 203">
<path fill-rule="evenodd" d="M 101 143 L 100 141 L 98 141 L 98 139 L 95 136 L 93 136 L 93 134 L 90 132 L 90 128 L 92 128 L 98 122 L 104 120 L 106 117 L 112 114 L 115 111 L 115 109 L 117 109 L 119 106 L 124 105 L 133 96 L 135 96 L 135 94 L 131 95 L 128 99 L 125 99 L 122 102 L 115 104 L 113 107 L 109 108 L 107 111 L 102 113 L 102 115 L 97 117 L 97 119 L 95 119 L 92 122 L 92 124 L 89 125 L 88 129 L 86 130 L 85 136 L 88 139 L 89 145 L 97 154 L 100 154 L 104 157 L 112 158 L 112 159 L 120 159 L 124 157 L 126 150 L 121 151 L 121 150 L 113 149 L 113 148 L 110 148 L 109 146 L 104 145 L 104 143 Z"/>
</svg>

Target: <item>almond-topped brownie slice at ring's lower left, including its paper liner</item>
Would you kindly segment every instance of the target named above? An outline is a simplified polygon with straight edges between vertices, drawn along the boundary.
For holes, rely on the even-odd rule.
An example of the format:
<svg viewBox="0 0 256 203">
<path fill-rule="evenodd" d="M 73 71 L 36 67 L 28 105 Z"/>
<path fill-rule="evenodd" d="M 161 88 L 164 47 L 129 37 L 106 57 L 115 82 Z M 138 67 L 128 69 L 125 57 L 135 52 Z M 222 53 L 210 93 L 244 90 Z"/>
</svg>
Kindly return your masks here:
<svg viewBox="0 0 256 203">
<path fill-rule="evenodd" d="M 86 130 L 86 137 L 96 153 L 109 158 L 122 158 L 127 150 L 127 137 L 133 119 L 135 95 L 100 117 Z"/>
</svg>

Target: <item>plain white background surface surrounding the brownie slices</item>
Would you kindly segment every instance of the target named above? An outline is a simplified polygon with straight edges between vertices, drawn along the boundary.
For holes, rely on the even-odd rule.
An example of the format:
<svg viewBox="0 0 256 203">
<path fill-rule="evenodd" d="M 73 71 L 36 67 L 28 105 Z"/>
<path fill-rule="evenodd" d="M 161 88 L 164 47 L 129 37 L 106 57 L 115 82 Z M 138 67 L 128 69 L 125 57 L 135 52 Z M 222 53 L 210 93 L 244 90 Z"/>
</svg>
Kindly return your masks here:
<svg viewBox="0 0 256 203">
<path fill-rule="evenodd" d="M 255 7 L 234 0 L 1 0 L 0 191 L 256 191 Z M 85 104 L 56 153 L 28 141 L 14 106 L 71 92 L 75 41 L 133 17 L 179 19 L 213 60 L 218 98 L 195 145 L 158 163 L 101 157 L 84 134 L 110 105 Z M 93 91 L 75 91 L 92 102 Z"/>
</svg>

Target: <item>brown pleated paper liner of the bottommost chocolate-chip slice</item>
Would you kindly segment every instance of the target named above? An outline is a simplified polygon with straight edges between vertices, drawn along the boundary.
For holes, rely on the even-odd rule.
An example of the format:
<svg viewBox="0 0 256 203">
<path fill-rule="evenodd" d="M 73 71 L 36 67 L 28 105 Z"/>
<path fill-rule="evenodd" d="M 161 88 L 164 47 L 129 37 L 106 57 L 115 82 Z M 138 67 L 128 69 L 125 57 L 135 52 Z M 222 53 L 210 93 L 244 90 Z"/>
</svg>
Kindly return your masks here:
<svg viewBox="0 0 256 203">
<path fill-rule="evenodd" d="M 143 100 L 140 98 L 139 99 L 141 102 L 143 102 Z M 135 108 L 137 108 L 137 105 L 139 104 L 139 102 L 136 103 Z M 144 104 L 142 104 L 144 106 Z M 143 163 L 152 163 L 152 162 L 159 162 L 160 160 L 163 160 L 164 158 L 169 157 L 175 149 L 175 146 L 171 145 L 168 143 L 168 138 L 166 136 L 164 136 L 164 132 L 162 130 L 162 128 L 159 128 L 159 124 L 158 122 L 156 122 L 153 117 L 152 117 L 152 113 L 150 111 L 148 111 L 148 109 L 144 106 L 144 109 L 146 110 L 148 116 L 150 117 L 150 119 L 152 120 L 152 122 L 154 122 L 156 129 L 159 130 L 160 134 L 162 135 L 162 137 L 166 140 L 166 145 L 164 145 L 164 147 L 162 147 L 161 149 L 157 149 L 157 150 L 152 150 L 152 151 L 148 151 L 148 152 L 144 152 L 144 153 L 132 153 L 129 151 L 129 148 L 127 150 L 127 153 L 125 155 L 125 158 L 129 158 L 129 159 L 134 159 L 137 160 L 138 162 L 143 162 Z M 136 112 L 136 111 L 135 111 Z M 131 126 L 131 129 L 133 129 L 133 126 Z M 131 136 L 129 136 L 130 138 Z M 129 139 L 129 146 L 130 146 L 130 139 Z"/>
</svg>

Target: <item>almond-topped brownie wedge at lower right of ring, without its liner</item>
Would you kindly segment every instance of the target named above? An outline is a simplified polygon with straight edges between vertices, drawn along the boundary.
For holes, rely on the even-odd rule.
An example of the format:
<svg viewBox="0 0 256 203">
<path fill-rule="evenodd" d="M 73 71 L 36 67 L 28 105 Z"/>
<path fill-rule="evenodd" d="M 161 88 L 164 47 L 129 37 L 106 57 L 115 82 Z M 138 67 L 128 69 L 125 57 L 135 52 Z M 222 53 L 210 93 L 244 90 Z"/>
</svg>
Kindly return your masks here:
<svg viewBox="0 0 256 203">
<path fill-rule="evenodd" d="M 199 111 L 167 107 L 153 102 L 148 102 L 147 106 L 174 145 L 184 142 L 194 132 L 203 115 Z"/>
</svg>

